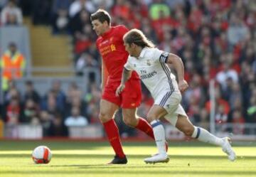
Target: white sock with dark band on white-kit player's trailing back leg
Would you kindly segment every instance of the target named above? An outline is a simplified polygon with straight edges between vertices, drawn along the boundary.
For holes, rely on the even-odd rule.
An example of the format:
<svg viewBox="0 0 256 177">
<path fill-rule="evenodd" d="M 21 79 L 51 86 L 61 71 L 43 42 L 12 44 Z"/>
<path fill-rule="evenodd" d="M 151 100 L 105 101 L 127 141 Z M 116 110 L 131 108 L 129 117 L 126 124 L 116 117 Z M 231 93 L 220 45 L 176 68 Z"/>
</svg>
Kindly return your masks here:
<svg viewBox="0 0 256 177">
<path fill-rule="evenodd" d="M 194 132 L 192 134 L 192 138 L 198 139 L 198 141 L 202 141 L 205 143 L 215 144 L 217 146 L 223 146 L 223 140 L 210 134 L 206 129 L 201 127 L 194 127 Z"/>
</svg>

